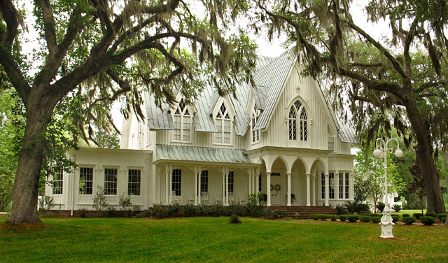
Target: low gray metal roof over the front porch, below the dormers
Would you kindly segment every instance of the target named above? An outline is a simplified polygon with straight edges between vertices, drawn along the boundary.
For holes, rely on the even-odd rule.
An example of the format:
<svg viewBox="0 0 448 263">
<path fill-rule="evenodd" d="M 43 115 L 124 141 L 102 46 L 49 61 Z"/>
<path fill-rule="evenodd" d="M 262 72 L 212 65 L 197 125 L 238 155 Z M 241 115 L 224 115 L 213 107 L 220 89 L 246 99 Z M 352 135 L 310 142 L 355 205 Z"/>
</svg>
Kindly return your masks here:
<svg viewBox="0 0 448 263">
<path fill-rule="evenodd" d="M 156 145 L 156 160 L 253 164 L 243 150 L 182 145 Z"/>
</svg>

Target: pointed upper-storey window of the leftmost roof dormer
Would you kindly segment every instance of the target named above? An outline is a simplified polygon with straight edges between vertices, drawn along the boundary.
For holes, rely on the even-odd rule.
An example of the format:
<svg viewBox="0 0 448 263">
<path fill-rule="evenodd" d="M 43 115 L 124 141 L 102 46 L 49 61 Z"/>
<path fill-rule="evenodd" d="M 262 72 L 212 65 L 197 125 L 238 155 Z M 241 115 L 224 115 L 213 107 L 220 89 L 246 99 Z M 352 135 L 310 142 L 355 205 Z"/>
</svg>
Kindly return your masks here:
<svg viewBox="0 0 448 263">
<path fill-rule="evenodd" d="M 185 101 L 181 99 L 173 116 L 174 122 L 174 141 L 190 141 L 191 115 Z"/>
</svg>

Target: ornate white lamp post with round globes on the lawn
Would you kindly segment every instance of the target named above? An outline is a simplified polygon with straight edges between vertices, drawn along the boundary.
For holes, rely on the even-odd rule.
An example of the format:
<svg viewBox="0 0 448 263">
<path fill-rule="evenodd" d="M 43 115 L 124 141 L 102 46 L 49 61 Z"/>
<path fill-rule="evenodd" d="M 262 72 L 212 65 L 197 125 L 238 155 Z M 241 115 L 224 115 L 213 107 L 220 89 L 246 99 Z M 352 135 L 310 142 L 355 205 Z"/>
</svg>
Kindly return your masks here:
<svg viewBox="0 0 448 263">
<path fill-rule="evenodd" d="M 400 143 L 398 143 L 398 140 L 395 138 L 391 138 L 388 141 L 384 141 L 382 138 L 377 138 L 376 143 L 376 149 L 373 151 L 374 157 L 377 157 L 379 159 L 384 158 L 384 192 L 386 197 L 386 206 L 383 210 L 383 216 L 381 217 L 381 222 L 379 225 L 381 225 L 381 238 L 388 239 L 393 238 L 392 234 L 392 227 L 395 225 L 393 223 L 392 217 L 391 217 L 391 208 L 389 207 L 389 201 L 388 201 L 388 190 L 387 190 L 387 152 L 388 152 L 388 144 L 392 141 L 395 141 L 397 143 L 397 148 L 395 150 L 395 156 L 400 158 L 403 155 L 403 151 L 400 150 Z M 389 149 L 390 150 L 390 149 Z"/>
</svg>

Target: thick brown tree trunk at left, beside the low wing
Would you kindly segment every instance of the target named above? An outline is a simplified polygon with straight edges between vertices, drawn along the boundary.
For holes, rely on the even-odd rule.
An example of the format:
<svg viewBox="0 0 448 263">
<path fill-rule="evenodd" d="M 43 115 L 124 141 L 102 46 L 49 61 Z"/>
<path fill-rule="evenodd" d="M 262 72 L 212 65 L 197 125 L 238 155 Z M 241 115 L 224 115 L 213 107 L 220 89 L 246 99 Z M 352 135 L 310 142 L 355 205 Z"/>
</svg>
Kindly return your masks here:
<svg viewBox="0 0 448 263">
<path fill-rule="evenodd" d="M 27 126 L 22 141 L 18 169 L 15 173 L 13 207 L 6 221 L 10 225 L 38 223 L 38 182 L 45 149 L 45 134 L 55 103 L 39 94 L 29 95 Z"/>
</svg>

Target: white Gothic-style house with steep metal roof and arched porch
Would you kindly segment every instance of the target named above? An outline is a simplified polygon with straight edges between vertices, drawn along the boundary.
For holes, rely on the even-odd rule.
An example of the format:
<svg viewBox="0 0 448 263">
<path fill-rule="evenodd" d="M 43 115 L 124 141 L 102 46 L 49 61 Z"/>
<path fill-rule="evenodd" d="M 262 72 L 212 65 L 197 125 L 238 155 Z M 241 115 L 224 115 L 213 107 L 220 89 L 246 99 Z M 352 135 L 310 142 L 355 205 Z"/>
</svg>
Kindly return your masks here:
<svg viewBox="0 0 448 263">
<path fill-rule="evenodd" d="M 236 97 L 205 87 L 193 105 L 155 106 L 146 120 L 125 120 L 120 150 L 81 148 L 68 155 L 73 173 L 46 189 L 62 210 L 92 208 L 97 185 L 111 205 L 120 194 L 148 208 L 169 204 L 245 204 L 267 194 L 267 206 L 335 206 L 353 200 L 353 130 L 339 122 L 291 52 L 260 57 L 257 88 Z M 295 201 L 291 200 L 291 195 Z"/>
</svg>

